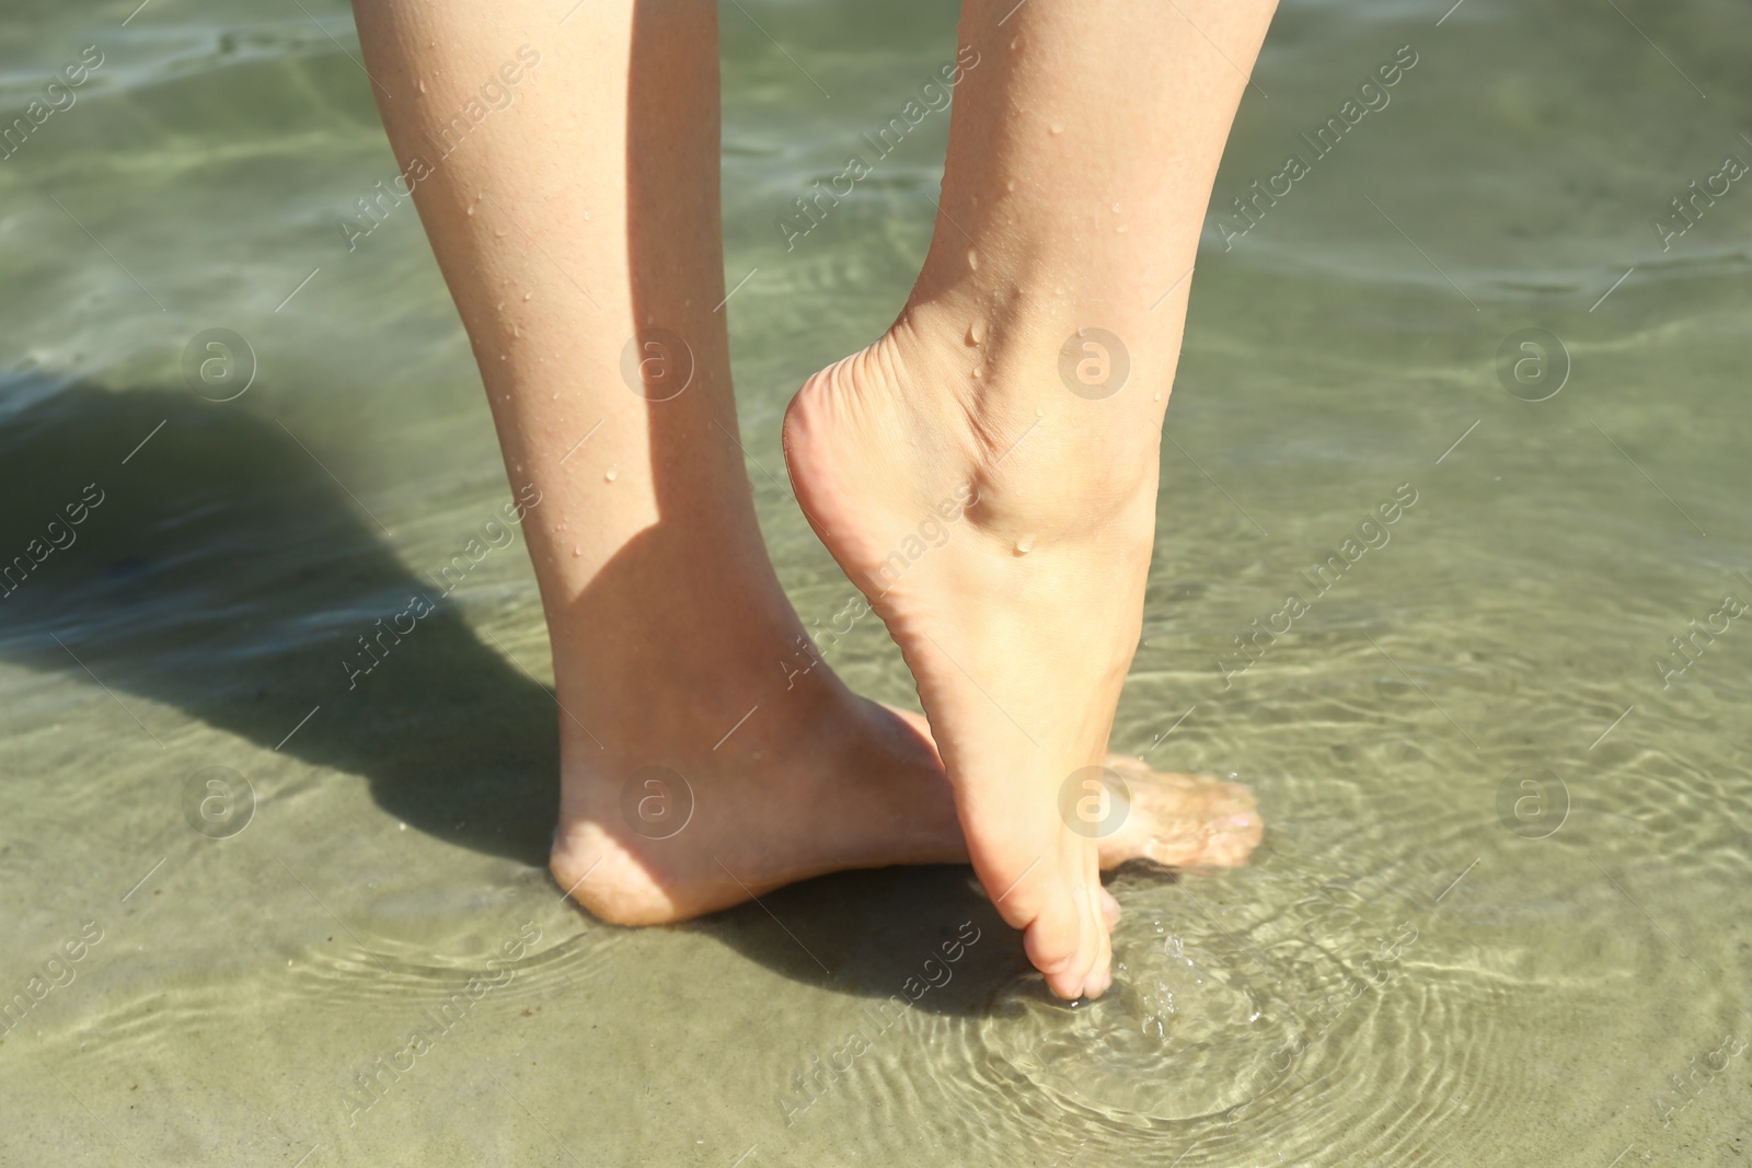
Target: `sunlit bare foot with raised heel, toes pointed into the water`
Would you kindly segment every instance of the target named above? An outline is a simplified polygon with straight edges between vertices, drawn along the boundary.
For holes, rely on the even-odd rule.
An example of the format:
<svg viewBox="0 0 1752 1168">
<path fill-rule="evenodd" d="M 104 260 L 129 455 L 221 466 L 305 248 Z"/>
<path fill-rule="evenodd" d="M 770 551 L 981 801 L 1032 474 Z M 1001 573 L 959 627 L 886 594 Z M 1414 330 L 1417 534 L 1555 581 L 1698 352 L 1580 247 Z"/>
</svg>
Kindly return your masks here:
<svg viewBox="0 0 1752 1168">
<path fill-rule="evenodd" d="M 1100 844 L 1062 795 L 1106 758 L 1137 644 L 1160 436 L 1067 392 L 1055 327 L 915 299 L 799 391 L 785 455 L 916 678 L 974 870 L 1076 998 L 1107 988 L 1111 949 Z M 1160 376 L 1134 366 L 1128 392 Z"/>
</svg>

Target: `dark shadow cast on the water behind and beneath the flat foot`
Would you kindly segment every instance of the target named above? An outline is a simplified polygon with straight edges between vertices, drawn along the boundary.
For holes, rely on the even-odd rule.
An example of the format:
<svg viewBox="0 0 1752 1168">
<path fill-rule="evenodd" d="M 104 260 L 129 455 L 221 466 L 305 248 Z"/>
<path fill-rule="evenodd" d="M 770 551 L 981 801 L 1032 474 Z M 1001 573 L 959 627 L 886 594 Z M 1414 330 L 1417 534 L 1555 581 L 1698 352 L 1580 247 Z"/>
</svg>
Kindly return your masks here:
<svg viewBox="0 0 1752 1168">
<path fill-rule="evenodd" d="M 81 681 L 89 669 L 121 699 L 175 706 L 266 749 L 284 741 L 284 755 L 364 777 L 413 828 L 545 867 L 559 774 L 552 695 L 477 637 L 284 429 L 182 389 L 42 396 L 14 383 L 7 398 L 35 401 L 0 419 L 0 571 L 12 567 L 0 655 Z M 67 504 L 96 492 L 102 503 L 68 525 Z M 68 546 L 35 562 L 68 532 Z M 357 660 L 356 637 L 415 594 L 436 611 L 349 688 L 342 660 Z M 191 756 L 151 706 L 128 706 L 145 730 L 100 707 L 117 744 L 158 753 L 151 732 L 173 767 L 226 762 Z M 965 869 L 846 872 L 682 928 L 797 981 L 887 998 L 908 979 L 941 977 L 937 951 L 964 921 L 979 942 L 918 1009 L 965 1012 L 1027 965 Z"/>
</svg>

